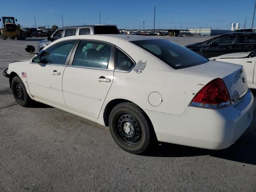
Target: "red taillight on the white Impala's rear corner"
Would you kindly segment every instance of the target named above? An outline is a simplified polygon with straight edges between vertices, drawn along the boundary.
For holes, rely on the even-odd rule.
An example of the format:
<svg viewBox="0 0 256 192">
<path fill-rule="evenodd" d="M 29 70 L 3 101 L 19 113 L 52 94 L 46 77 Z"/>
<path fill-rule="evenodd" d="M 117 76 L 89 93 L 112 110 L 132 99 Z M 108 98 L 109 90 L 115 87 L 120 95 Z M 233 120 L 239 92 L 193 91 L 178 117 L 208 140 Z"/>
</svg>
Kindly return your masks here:
<svg viewBox="0 0 256 192">
<path fill-rule="evenodd" d="M 222 79 L 216 78 L 194 96 L 190 106 L 216 109 L 230 104 L 230 96 L 225 83 Z"/>
</svg>

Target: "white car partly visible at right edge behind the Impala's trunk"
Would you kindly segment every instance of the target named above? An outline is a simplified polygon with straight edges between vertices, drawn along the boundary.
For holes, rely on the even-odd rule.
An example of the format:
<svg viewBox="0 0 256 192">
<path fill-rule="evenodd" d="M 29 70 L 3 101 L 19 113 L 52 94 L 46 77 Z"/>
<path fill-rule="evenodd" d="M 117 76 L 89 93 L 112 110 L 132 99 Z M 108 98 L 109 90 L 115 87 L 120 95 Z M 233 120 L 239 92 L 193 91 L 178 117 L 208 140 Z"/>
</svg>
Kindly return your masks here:
<svg viewBox="0 0 256 192">
<path fill-rule="evenodd" d="M 244 67 L 249 88 L 256 89 L 256 52 L 238 52 L 212 57 L 210 60 L 240 64 Z"/>
</svg>

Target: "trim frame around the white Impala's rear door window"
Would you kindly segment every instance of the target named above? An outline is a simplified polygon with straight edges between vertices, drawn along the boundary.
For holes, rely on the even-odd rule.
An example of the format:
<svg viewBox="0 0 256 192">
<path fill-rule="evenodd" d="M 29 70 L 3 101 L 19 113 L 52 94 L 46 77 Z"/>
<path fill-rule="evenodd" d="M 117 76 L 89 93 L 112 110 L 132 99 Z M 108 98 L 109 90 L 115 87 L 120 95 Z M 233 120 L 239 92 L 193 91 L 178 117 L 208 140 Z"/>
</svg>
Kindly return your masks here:
<svg viewBox="0 0 256 192">
<path fill-rule="evenodd" d="M 82 41 L 88 41 L 88 42 L 102 42 L 105 44 L 108 44 L 111 46 L 111 53 L 110 53 L 110 58 L 108 60 L 108 65 L 106 69 L 102 69 L 102 68 L 92 68 L 92 67 L 84 67 L 84 66 L 73 66 L 73 60 L 74 60 L 74 56 L 76 54 L 77 48 L 80 44 L 80 42 Z M 99 69 L 99 70 L 114 70 L 114 45 L 109 43 L 109 42 L 105 42 L 105 41 L 101 41 L 101 40 L 87 40 L 87 39 L 79 39 L 76 46 L 74 47 L 74 50 L 71 54 L 70 60 L 68 62 L 67 66 L 72 66 L 72 67 L 78 67 L 78 68 L 87 68 L 87 69 Z"/>
</svg>

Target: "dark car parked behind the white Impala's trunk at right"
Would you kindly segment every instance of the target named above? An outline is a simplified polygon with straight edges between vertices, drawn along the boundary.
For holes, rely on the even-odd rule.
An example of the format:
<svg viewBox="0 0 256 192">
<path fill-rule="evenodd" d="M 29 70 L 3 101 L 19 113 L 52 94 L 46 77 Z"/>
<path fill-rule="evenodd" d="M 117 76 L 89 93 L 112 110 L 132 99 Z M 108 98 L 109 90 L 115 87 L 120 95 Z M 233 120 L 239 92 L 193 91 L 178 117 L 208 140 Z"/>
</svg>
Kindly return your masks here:
<svg viewBox="0 0 256 192">
<path fill-rule="evenodd" d="M 227 33 L 204 42 L 187 45 L 186 48 L 206 58 L 228 53 L 256 51 L 256 33 Z"/>
</svg>

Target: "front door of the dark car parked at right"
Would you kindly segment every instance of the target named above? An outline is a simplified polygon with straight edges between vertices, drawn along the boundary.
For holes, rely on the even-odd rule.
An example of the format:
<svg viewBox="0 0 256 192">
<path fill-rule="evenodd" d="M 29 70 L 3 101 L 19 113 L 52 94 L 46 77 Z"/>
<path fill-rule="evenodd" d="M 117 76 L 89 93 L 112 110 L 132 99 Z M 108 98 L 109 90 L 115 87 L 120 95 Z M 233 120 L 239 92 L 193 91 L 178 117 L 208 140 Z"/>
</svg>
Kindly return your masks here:
<svg viewBox="0 0 256 192">
<path fill-rule="evenodd" d="M 233 52 L 236 35 L 227 35 L 209 40 L 199 50 L 199 53 L 206 58 L 216 57 Z"/>
</svg>

